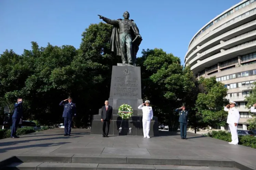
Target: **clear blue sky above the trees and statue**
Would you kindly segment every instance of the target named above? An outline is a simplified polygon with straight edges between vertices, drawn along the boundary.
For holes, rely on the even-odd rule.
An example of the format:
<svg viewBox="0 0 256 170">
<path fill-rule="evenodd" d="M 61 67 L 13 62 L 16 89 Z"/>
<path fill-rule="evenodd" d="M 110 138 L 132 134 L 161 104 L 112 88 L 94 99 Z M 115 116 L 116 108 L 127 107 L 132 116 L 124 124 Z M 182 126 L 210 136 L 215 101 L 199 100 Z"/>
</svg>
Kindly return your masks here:
<svg viewBox="0 0 256 170">
<path fill-rule="evenodd" d="M 22 54 L 39 46 L 73 45 L 97 16 L 118 19 L 130 13 L 141 33 L 142 49 L 162 48 L 184 63 L 194 34 L 218 14 L 240 0 L 0 0 L 0 54 L 13 49 Z"/>
</svg>

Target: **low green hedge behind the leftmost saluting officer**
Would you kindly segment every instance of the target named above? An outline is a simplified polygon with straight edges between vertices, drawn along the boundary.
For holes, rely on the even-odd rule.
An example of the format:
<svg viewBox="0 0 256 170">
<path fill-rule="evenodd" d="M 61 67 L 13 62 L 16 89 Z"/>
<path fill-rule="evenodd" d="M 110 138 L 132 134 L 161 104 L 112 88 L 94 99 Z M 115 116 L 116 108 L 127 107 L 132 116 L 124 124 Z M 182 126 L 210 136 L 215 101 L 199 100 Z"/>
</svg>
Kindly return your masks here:
<svg viewBox="0 0 256 170">
<path fill-rule="evenodd" d="M 40 130 L 37 131 L 42 131 L 42 130 L 47 130 L 47 129 L 51 129 L 52 127 L 49 126 L 42 126 Z M 30 134 L 33 132 L 37 132 L 34 130 L 34 127 L 22 127 L 22 128 L 18 128 L 16 131 L 16 135 L 26 135 L 26 134 Z M 11 129 L 0 129 L 0 139 L 4 139 L 4 138 L 10 138 L 11 137 Z"/>
</svg>

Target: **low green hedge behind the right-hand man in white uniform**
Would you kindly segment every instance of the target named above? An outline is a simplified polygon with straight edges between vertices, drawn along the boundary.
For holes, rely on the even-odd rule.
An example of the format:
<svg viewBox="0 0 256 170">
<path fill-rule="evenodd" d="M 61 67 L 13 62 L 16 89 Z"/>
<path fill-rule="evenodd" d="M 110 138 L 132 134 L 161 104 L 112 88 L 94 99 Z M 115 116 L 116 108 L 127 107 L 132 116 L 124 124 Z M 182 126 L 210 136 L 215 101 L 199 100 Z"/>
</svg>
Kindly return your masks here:
<svg viewBox="0 0 256 170">
<path fill-rule="evenodd" d="M 231 133 L 225 132 L 223 130 L 212 131 L 211 133 L 209 132 L 207 136 L 215 138 L 215 139 L 225 140 L 227 142 L 232 141 Z M 240 135 L 240 136 L 238 136 L 238 139 L 239 139 L 238 144 L 256 149 L 256 137 L 255 136 L 250 136 L 250 135 L 241 136 Z"/>
</svg>

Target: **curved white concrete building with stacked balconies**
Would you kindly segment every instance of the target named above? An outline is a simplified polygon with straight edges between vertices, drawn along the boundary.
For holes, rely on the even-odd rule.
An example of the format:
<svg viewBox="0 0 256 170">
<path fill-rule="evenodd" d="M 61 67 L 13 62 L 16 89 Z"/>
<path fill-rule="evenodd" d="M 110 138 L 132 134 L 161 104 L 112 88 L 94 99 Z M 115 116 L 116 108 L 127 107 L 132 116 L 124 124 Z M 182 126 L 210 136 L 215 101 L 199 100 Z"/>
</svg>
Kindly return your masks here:
<svg viewBox="0 0 256 170">
<path fill-rule="evenodd" d="M 216 76 L 225 84 L 240 111 L 238 129 L 247 130 L 252 117 L 245 96 L 256 81 L 256 0 L 243 0 L 203 26 L 189 42 L 185 64 L 197 77 Z"/>
</svg>

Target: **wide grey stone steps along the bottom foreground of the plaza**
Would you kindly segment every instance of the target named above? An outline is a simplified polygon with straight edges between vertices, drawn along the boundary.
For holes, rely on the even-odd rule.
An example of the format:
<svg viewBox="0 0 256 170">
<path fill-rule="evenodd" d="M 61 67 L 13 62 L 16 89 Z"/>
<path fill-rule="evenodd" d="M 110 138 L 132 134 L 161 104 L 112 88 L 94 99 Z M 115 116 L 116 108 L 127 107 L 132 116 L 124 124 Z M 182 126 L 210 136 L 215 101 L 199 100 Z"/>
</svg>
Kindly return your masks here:
<svg viewBox="0 0 256 170">
<path fill-rule="evenodd" d="M 1 164 L 2 163 L 2 164 Z M 4 164 L 3 164 L 4 163 Z M 0 162 L 3 169 L 182 169 L 252 170 L 227 158 L 194 158 L 147 155 L 21 154 Z M 48 169 L 47 169 L 48 168 Z M 2 170 L 2 169 L 1 169 Z"/>
</svg>

